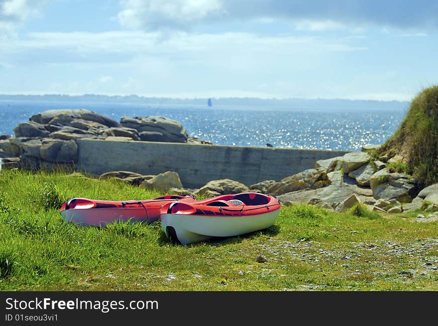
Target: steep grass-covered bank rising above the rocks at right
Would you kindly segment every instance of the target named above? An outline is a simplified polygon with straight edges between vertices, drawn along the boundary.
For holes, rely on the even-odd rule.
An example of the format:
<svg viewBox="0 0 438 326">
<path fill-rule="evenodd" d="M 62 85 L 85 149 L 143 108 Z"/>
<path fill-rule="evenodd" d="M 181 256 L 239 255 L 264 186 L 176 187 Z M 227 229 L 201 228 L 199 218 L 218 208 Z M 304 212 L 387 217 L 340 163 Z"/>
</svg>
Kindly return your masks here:
<svg viewBox="0 0 438 326">
<path fill-rule="evenodd" d="M 421 186 L 438 182 L 438 86 L 423 90 L 412 101 L 406 118 L 379 154 L 401 155 Z"/>
</svg>

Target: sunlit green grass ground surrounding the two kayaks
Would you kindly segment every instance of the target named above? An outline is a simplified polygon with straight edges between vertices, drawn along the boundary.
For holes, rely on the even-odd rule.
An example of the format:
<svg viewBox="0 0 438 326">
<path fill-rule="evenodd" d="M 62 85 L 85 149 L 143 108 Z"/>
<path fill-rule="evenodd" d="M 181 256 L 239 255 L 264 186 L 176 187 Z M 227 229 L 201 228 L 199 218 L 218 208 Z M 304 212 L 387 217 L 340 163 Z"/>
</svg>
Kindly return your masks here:
<svg viewBox="0 0 438 326">
<path fill-rule="evenodd" d="M 438 290 L 437 222 L 416 222 L 421 211 L 282 207 L 268 229 L 186 246 L 159 222 L 78 227 L 59 213 L 72 197 L 158 195 L 113 179 L 2 170 L 0 290 Z M 256 262 L 260 253 L 268 263 Z"/>
</svg>

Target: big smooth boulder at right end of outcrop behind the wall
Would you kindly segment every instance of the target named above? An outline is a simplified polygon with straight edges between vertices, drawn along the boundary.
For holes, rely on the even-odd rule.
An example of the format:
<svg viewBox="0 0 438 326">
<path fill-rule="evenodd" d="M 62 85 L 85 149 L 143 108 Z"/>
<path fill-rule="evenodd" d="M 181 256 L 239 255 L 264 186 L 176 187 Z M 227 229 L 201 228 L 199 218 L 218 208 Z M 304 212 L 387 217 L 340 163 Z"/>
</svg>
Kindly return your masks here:
<svg viewBox="0 0 438 326">
<path fill-rule="evenodd" d="M 162 116 L 124 116 L 120 119 L 120 124 L 136 129 L 142 140 L 155 137 L 157 140 L 154 141 L 184 143 L 188 139 L 187 131 L 181 123 Z"/>
</svg>

